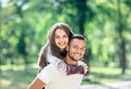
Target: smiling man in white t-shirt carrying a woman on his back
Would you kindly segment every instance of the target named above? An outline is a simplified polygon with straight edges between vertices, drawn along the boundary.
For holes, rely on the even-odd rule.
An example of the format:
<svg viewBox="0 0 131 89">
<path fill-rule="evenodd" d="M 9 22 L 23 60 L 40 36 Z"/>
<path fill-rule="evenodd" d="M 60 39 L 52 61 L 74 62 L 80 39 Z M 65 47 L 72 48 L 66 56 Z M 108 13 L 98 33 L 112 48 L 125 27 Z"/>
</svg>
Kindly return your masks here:
<svg viewBox="0 0 131 89">
<path fill-rule="evenodd" d="M 69 44 L 67 46 L 67 56 L 64 59 L 64 63 L 67 65 L 79 65 L 79 61 L 81 61 L 84 56 L 86 48 L 86 40 L 81 35 L 73 36 Z M 56 65 L 49 64 L 47 65 L 35 78 L 35 80 L 28 86 L 28 89 L 78 89 L 81 85 L 82 78 L 84 76 L 84 68 L 78 67 L 76 69 L 61 73 Z"/>
</svg>

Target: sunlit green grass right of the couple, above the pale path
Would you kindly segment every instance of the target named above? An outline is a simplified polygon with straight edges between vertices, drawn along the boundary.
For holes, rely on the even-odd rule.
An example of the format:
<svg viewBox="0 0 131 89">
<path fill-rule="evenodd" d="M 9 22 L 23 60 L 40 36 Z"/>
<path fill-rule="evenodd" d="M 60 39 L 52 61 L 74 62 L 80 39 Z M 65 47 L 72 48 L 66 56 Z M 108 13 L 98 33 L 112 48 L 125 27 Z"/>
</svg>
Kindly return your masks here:
<svg viewBox="0 0 131 89">
<path fill-rule="evenodd" d="M 131 69 L 127 69 L 126 75 L 121 75 L 120 68 L 112 67 L 92 67 L 91 78 L 83 79 L 82 85 L 87 84 L 107 84 L 115 81 L 131 80 Z"/>
</svg>

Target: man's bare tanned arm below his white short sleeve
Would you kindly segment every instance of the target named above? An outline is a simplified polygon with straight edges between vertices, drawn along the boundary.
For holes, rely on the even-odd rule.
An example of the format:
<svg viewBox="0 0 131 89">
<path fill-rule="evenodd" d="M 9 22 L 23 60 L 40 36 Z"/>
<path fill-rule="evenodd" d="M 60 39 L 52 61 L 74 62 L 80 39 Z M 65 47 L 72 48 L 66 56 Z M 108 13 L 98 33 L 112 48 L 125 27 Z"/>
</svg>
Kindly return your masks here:
<svg viewBox="0 0 131 89">
<path fill-rule="evenodd" d="M 44 81 L 41 81 L 38 77 L 36 77 L 33 82 L 28 86 L 27 89 L 43 89 L 46 86 Z"/>
</svg>

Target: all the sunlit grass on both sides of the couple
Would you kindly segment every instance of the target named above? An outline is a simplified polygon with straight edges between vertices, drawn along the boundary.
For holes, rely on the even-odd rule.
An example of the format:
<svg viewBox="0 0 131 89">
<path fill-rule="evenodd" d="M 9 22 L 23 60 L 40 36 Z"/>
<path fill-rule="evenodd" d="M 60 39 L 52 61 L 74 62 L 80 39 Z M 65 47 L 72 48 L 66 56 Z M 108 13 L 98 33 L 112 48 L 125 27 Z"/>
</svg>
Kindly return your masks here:
<svg viewBox="0 0 131 89">
<path fill-rule="evenodd" d="M 3 65 L 1 69 L 0 89 L 27 89 L 37 73 L 36 65 Z M 131 80 L 131 69 L 127 69 L 126 75 L 120 73 L 120 68 L 92 67 L 88 75 L 92 77 L 83 79 L 82 85 Z"/>
</svg>

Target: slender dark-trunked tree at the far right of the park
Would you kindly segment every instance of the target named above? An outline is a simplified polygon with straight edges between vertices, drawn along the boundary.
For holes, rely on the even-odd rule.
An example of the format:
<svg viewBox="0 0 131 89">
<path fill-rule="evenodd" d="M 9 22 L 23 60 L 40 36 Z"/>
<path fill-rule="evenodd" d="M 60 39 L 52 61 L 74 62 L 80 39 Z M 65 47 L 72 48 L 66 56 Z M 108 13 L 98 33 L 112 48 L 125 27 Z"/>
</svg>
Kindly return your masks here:
<svg viewBox="0 0 131 89">
<path fill-rule="evenodd" d="M 120 0 L 118 1 L 118 35 L 120 38 L 120 47 L 119 47 L 119 52 L 120 52 L 120 67 L 122 68 L 122 74 L 126 74 L 126 68 L 127 68 L 127 38 L 126 38 L 126 33 L 128 33 L 128 17 L 131 15 L 130 11 L 130 7 L 128 5 L 129 3 L 131 3 L 128 0 L 124 0 L 123 2 Z M 121 7 L 124 5 L 124 8 L 129 8 L 129 13 L 124 13 L 122 12 Z"/>
</svg>

